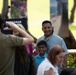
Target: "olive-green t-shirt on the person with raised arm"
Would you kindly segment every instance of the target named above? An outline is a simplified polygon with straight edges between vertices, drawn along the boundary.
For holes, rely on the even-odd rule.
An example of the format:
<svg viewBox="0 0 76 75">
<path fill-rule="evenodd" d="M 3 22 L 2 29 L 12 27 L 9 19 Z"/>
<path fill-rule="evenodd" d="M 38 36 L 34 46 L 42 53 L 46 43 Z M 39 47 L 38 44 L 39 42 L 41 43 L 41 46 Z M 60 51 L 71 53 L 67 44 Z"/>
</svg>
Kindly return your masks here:
<svg viewBox="0 0 76 75">
<path fill-rule="evenodd" d="M 12 38 L 10 35 L 8 36 L 0 33 L 0 74 L 1 75 L 11 75 L 11 73 L 12 75 L 14 75 L 13 74 L 14 56 L 15 56 L 14 46 L 21 45 L 22 40 L 16 42 L 15 41 L 16 38 Z"/>
</svg>

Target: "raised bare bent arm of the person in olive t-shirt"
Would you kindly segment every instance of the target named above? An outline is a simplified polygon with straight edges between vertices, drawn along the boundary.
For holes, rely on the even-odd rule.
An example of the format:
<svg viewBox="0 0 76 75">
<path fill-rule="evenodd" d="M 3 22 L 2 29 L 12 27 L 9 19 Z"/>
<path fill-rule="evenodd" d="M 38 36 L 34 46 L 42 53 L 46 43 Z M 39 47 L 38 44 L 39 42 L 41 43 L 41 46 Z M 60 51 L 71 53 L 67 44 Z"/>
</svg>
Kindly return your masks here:
<svg viewBox="0 0 76 75">
<path fill-rule="evenodd" d="M 30 43 L 33 43 L 34 42 L 34 39 L 31 35 L 29 35 L 26 30 L 24 31 L 23 29 L 21 29 L 19 26 L 17 26 L 17 24 L 13 23 L 13 22 L 6 22 L 10 28 L 12 30 L 17 30 L 23 37 L 23 43 L 22 45 L 25 45 L 25 44 L 30 44 Z"/>
</svg>

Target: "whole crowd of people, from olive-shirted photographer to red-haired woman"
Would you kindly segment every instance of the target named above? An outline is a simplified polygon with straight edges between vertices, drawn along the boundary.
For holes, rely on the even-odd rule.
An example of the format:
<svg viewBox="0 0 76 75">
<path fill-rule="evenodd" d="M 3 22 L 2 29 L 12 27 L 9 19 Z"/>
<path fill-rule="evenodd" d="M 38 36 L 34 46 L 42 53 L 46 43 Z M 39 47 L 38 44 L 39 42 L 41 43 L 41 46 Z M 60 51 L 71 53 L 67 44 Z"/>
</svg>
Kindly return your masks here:
<svg viewBox="0 0 76 75">
<path fill-rule="evenodd" d="M 2 33 L 2 27 L 13 34 Z M 76 75 L 76 70 L 67 68 L 68 50 L 60 36 L 54 34 L 52 23 L 42 22 L 44 33 L 37 39 L 36 55 L 27 45 L 34 43 L 34 38 L 21 26 L 6 22 L 0 15 L 0 75 Z M 32 48 L 33 51 L 33 48 Z"/>
</svg>

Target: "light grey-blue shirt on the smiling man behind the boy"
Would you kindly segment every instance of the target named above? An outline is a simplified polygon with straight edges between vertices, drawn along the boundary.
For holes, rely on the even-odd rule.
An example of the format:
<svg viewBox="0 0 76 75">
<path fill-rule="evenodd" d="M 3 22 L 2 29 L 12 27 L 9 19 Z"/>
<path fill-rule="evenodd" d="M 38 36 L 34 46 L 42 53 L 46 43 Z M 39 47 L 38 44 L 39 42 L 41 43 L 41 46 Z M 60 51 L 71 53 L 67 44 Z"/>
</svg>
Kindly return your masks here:
<svg viewBox="0 0 76 75">
<path fill-rule="evenodd" d="M 58 35 L 56 35 L 56 34 L 53 33 L 51 36 L 49 36 L 47 38 L 45 38 L 45 36 L 40 37 L 37 40 L 37 43 L 40 40 L 45 40 L 47 42 L 47 46 L 48 46 L 48 50 L 47 51 L 49 51 L 54 45 L 60 45 L 65 50 L 65 54 L 68 54 L 66 44 L 65 44 L 63 38 L 61 38 L 60 36 L 58 36 Z"/>
</svg>

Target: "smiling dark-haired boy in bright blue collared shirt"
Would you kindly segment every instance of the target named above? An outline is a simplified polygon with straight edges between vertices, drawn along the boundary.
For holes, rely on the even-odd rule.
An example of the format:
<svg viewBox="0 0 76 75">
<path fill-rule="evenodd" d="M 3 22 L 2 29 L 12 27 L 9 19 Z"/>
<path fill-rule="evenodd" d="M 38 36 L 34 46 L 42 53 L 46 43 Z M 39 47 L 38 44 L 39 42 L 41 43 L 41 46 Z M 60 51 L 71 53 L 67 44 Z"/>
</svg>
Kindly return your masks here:
<svg viewBox="0 0 76 75">
<path fill-rule="evenodd" d="M 37 66 L 39 66 L 39 64 L 45 59 L 45 57 L 47 56 L 46 50 L 47 50 L 47 43 L 44 40 L 41 40 L 38 44 L 37 44 L 37 50 L 38 50 L 38 54 L 35 56 L 35 60 L 37 63 Z"/>
</svg>

